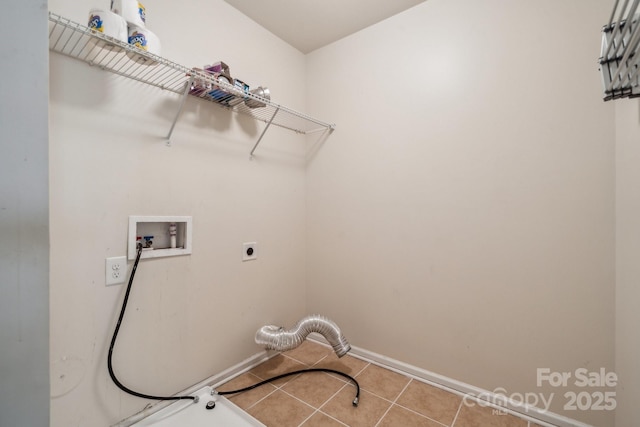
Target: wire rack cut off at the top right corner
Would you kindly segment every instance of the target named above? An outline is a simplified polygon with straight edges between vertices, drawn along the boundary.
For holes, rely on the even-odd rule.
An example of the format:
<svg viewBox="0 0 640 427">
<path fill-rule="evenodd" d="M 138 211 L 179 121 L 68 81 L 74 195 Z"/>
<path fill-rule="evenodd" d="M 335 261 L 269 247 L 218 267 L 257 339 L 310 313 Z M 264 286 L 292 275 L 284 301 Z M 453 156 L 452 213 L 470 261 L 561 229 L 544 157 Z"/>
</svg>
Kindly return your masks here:
<svg viewBox="0 0 640 427">
<path fill-rule="evenodd" d="M 640 2 L 616 0 L 609 23 L 602 29 L 600 71 L 604 100 L 640 96 Z"/>
</svg>

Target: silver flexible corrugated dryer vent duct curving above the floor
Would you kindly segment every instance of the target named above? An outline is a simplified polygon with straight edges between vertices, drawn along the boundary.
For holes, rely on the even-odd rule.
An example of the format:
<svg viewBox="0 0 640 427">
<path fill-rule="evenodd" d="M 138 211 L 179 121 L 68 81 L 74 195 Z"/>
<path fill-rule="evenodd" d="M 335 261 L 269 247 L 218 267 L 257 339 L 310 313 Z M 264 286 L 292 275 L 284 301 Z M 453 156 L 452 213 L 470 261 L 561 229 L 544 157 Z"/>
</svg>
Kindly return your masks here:
<svg viewBox="0 0 640 427">
<path fill-rule="evenodd" d="M 351 346 L 333 321 L 324 316 L 311 315 L 298 321 L 287 331 L 282 326 L 266 325 L 256 332 L 256 344 L 268 350 L 287 351 L 298 347 L 311 332 L 322 335 L 333 347 L 338 357 L 342 357 Z"/>
</svg>

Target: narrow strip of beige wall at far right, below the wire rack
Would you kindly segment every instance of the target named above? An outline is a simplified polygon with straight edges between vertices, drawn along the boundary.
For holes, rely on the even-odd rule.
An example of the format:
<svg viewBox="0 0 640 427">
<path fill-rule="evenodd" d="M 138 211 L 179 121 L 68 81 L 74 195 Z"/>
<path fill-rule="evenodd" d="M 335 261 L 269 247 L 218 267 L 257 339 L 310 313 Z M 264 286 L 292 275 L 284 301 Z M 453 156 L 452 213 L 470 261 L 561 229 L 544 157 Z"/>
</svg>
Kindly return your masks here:
<svg viewBox="0 0 640 427">
<path fill-rule="evenodd" d="M 616 427 L 638 424 L 640 396 L 640 103 L 616 101 Z"/>
</svg>

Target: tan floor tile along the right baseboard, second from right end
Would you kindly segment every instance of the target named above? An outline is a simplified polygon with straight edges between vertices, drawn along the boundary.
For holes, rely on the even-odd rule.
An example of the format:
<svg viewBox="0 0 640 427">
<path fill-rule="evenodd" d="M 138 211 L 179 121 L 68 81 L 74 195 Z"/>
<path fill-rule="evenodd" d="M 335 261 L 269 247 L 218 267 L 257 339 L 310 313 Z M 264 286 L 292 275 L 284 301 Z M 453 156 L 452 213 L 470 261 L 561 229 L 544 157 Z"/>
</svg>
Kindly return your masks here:
<svg viewBox="0 0 640 427">
<path fill-rule="evenodd" d="M 396 403 L 442 424 L 451 425 L 462 402 L 460 396 L 412 380 Z"/>
</svg>

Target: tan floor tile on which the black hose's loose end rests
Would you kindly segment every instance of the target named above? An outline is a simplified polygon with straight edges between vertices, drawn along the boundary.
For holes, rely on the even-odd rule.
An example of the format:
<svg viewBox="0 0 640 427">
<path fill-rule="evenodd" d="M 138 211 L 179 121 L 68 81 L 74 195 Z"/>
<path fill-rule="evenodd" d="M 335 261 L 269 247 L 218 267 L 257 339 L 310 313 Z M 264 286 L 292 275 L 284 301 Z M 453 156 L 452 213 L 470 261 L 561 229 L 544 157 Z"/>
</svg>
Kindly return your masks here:
<svg viewBox="0 0 640 427">
<path fill-rule="evenodd" d="M 348 385 L 320 410 L 350 427 L 373 427 L 391 406 L 390 402 L 367 391 L 360 392 L 360 403 L 353 406 L 355 387 Z"/>
</svg>

